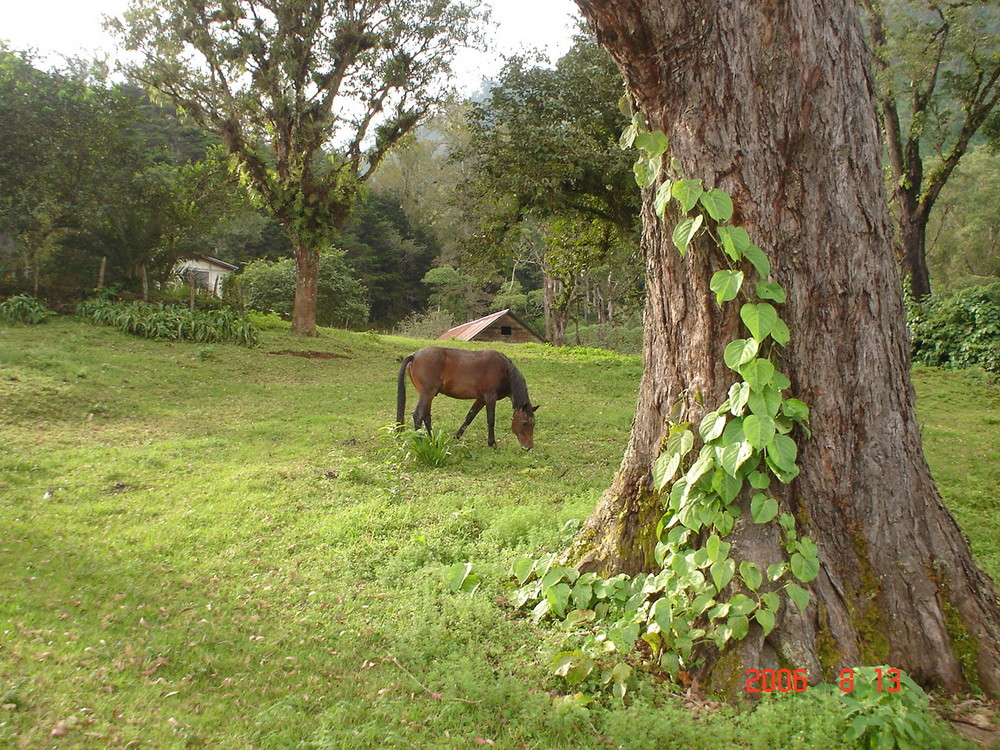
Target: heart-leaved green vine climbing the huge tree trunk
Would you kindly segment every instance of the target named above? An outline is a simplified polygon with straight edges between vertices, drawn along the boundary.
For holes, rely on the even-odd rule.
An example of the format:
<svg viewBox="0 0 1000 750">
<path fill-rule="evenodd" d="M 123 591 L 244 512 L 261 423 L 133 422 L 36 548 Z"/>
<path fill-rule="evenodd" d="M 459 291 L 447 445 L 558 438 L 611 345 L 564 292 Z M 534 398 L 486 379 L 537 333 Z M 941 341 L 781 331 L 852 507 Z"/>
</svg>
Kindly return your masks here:
<svg viewBox="0 0 1000 750">
<path fill-rule="evenodd" d="M 790 339 L 774 306 L 785 301 L 785 291 L 768 280 L 767 255 L 745 229 L 730 223 L 729 195 L 718 188 L 705 190 L 701 180 L 685 179 L 676 163 L 665 173 L 667 136 L 649 130 L 645 117 L 626 107 L 627 102 L 623 111 L 631 114 L 632 122 L 620 145 L 642 151 L 634 166 L 636 182 L 652 188 L 659 181 L 654 207 L 661 219 L 670 201 L 679 203 L 682 218 L 673 230 L 673 242 L 682 256 L 695 237 L 707 234 L 714 240 L 725 267 L 713 274 L 710 288 L 720 305 L 740 303 L 748 336 L 730 342 L 722 352 L 736 374 L 728 397 L 708 411 L 697 428 L 687 421 L 672 422 L 652 467 L 654 486 L 666 507 L 657 527 L 658 572 L 611 578 L 581 575 L 560 565 L 556 555 L 514 562 L 520 585 L 515 603 L 524 607 L 533 602 L 536 620 L 563 620 L 579 644 L 556 656 L 554 673 L 572 685 L 611 686 L 618 697 L 625 694 L 631 669 L 622 662 L 601 672 L 598 659 L 603 654 L 629 653 L 642 640 L 662 668 L 678 675 L 698 666 L 700 646 L 724 651 L 745 638 L 754 624 L 763 635 L 771 633 L 783 606 L 782 594 L 804 611 L 810 598 L 804 584 L 819 572 L 816 545 L 797 533 L 795 518 L 780 512 L 778 501 L 768 493 L 772 478 L 788 484 L 799 473 L 793 430 L 798 426 L 809 434 L 809 407 L 785 397 L 791 383 L 773 361 Z M 757 280 L 751 286 L 754 274 Z M 787 553 L 786 560 L 764 570 L 749 560 L 737 563 L 725 541 L 740 521 L 737 499 L 747 486 L 752 490 L 749 522 L 776 522 Z"/>
</svg>

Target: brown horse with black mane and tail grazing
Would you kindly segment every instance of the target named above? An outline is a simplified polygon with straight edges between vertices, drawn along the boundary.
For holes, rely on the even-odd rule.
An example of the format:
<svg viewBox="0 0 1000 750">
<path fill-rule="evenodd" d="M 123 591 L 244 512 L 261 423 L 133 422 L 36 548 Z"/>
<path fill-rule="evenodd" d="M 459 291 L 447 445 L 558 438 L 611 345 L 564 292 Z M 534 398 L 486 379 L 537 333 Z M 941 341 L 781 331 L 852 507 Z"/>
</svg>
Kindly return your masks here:
<svg viewBox="0 0 1000 750">
<path fill-rule="evenodd" d="M 420 401 L 413 412 L 413 425 L 420 429 L 423 425 L 431 431 L 431 401 L 443 393 L 445 396 L 475 399 L 465 422 L 458 428 L 456 438 L 462 437 L 476 415 L 486 407 L 486 423 L 489 431 L 488 442 L 496 446 L 493 422 L 496 403 L 510 396 L 514 404 L 514 418 L 511 430 L 517 435 L 522 448 L 534 445 L 535 410 L 528 399 L 528 386 L 524 376 L 514 367 L 514 363 L 500 352 L 492 349 L 468 351 L 442 346 L 425 346 L 403 360 L 399 368 L 396 390 L 396 423 L 403 423 L 406 410 L 406 374 L 420 394 Z"/>
</svg>

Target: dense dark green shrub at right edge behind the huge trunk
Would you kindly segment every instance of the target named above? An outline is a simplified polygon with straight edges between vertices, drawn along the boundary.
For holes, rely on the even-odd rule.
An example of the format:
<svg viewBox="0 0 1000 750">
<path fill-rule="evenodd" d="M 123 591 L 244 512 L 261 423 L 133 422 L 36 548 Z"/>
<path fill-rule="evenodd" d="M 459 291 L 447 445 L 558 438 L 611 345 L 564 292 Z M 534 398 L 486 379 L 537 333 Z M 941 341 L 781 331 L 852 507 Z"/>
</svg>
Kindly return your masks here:
<svg viewBox="0 0 1000 750">
<path fill-rule="evenodd" d="M 1000 283 L 906 301 L 914 362 L 1000 373 Z"/>
</svg>

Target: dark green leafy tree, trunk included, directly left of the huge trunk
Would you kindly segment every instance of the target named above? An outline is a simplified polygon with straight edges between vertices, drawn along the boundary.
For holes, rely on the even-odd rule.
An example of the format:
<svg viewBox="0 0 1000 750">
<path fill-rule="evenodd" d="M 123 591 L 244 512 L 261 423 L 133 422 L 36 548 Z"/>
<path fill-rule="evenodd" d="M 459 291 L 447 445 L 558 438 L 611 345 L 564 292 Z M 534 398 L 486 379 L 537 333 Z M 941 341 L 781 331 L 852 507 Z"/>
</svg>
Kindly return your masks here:
<svg viewBox="0 0 1000 750">
<path fill-rule="evenodd" d="M 621 91 L 608 55 L 581 34 L 555 67 L 510 61 L 470 108 L 463 192 L 480 229 L 469 254 L 538 265 L 546 337 L 557 345 L 585 298 L 586 268 L 638 268 L 634 257 L 610 254 L 622 240 L 634 247 L 638 220 L 631 163 L 617 145 Z"/>
</svg>

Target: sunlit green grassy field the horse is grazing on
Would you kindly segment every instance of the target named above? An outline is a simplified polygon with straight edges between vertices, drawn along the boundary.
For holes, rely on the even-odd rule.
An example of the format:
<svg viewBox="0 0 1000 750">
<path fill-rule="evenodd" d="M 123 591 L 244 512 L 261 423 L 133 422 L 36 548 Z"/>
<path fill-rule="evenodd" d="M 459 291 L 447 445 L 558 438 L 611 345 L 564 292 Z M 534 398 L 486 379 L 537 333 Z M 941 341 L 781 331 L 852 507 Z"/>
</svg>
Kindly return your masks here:
<svg viewBox="0 0 1000 750">
<path fill-rule="evenodd" d="M 640 361 L 511 348 L 535 450 L 504 402 L 497 450 L 480 416 L 428 469 L 383 430 L 418 345 L 0 328 L 0 747 L 844 746 L 818 692 L 742 712 L 655 684 L 554 700 L 556 636 L 498 601 L 500 573 L 562 548 L 608 485 Z M 1000 388 L 920 370 L 917 389 L 932 469 L 997 577 Z M 454 430 L 468 404 L 434 407 Z M 466 560 L 473 596 L 444 577 Z"/>
</svg>

